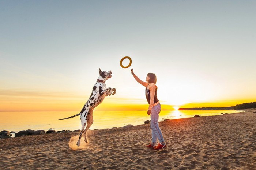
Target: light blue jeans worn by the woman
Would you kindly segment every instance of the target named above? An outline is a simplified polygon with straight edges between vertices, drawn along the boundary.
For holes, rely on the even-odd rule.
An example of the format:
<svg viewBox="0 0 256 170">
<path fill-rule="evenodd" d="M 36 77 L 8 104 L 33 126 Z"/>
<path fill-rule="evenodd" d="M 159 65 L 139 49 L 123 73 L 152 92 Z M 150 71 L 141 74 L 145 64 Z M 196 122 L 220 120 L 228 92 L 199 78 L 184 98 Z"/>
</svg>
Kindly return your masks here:
<svg viewBox="0 0 256 170">
<path fill-rule="evenodd" d="M 151 145 L 153 145 L 153 146 L 157 143 L 157 138 L 160 143 L 165 142 L 165 140 L 163 139 L 162 131 L 158 125 L 158 118 L 159 118 L 160 111 L 161 111 L 161 104 L 159 103 L 156 106 L 152 107 L 152 111 L 151 111 L 151 115 L 150 115 L 150 119 L 151 119 L 150 129 L 152 130 L 152 144 Z"/>
</svg>

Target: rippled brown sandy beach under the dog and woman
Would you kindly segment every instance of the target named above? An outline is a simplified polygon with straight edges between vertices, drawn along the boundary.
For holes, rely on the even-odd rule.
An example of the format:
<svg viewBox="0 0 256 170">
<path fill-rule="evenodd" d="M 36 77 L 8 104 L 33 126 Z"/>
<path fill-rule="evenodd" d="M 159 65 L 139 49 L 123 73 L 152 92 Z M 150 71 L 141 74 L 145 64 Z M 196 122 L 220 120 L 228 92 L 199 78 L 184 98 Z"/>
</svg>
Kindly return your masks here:
<svg viewBox="0 0 256 170">
<path fill-rule="evenodd" d="M 1 169 L 256 169 L 256 110 L 159 122 L 167 149 L 146 148 L 149 124 L 1 139 Z"/>
</svg>

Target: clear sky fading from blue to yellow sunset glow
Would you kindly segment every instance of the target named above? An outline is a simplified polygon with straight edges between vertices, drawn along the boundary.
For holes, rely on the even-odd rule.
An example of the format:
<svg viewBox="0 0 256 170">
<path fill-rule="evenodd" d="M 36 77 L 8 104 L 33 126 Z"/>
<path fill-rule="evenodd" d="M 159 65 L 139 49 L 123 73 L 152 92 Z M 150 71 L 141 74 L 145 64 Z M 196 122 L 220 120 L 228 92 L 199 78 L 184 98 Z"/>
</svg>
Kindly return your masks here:
<svg viewBox="0 0 256 170">
<path fill-rule="evenodd" d="M 162 109 L 254 102 L 255 30 L 253 0 L 0 1 L 0 111 L 80 111 L 99 68 L 98 110 L 147 109 L 131 68 Z"/>
</svg>

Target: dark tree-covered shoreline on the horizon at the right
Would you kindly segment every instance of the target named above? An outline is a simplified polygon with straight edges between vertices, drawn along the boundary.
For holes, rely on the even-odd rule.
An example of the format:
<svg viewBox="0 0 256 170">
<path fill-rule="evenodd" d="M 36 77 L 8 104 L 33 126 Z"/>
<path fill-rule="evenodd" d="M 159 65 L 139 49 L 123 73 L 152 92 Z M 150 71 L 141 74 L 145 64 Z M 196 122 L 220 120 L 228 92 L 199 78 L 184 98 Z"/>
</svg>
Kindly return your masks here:
<svg viewBox="0 0 256 170">
<path fill-rule="evenodd" d="M 179 108 L 179 110 L 241 110 L 247 108 L 256 108 L 256 102 L 237 104 L 230 107 L 194 107 L 194 108 Z"/>
</svg>

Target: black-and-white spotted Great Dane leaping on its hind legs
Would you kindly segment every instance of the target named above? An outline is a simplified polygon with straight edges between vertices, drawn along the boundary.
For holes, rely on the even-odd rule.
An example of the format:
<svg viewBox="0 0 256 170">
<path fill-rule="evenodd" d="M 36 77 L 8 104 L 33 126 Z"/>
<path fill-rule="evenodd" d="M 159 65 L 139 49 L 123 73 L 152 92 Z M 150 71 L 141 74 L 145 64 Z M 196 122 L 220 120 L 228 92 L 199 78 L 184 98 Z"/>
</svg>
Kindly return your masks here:
<svg viewBox="0 0 256 170">
<path fill-rule="evenodd" d="M 105 81 L 112 77 L 111 74 L 112 74 L 111 71 L 108 71 L 108 72 L 101 71 L 101 69 L 99 68 L 99 77 L 93 86 L 93 91 L 91 92 L 91 96 L 89 100 L 84 104 L 84 107 L 82 108 L 80 113 L 68 118 L 64 118 L 64 119 L 69 119 L 69 118 L 74 118 L 75 116 L 80 115 L 82 129 L 79 135 L 79 139 L 76 143 L 77 146 L 80 146 L 80 140 L 83 133 L 84 133 L 84 141 L 86 143 L 88 142 L 86 133 L 87 133 L 87 130 L 93 124 L 93 109 L 99 104 L 101 104 L 101 102 L 104 100 L 106 96 L 108 95 L 111 96 L 112 92 L 113 92 L 113 95 L 116 94 L 115 88 L 110 88 L 110 87 L 107 88 L 105 84 Z M 64 119 L 59 119 L 59 120 L 64 120 Z M 84 129 L 85 126 L 86 126 L 86 129 Z"/>
</svg>

